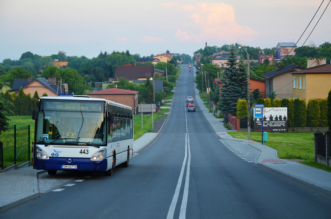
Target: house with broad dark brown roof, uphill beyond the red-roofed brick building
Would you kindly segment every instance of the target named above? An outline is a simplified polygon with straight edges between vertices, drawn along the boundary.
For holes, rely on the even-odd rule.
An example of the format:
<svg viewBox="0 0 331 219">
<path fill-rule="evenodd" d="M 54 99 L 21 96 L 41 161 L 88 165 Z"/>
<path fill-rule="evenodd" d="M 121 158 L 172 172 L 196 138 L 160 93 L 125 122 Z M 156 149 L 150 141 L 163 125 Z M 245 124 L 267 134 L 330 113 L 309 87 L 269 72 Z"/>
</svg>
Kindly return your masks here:
<svg viewBox="0 0 331 219">
<path fill-rule="evenodd" d="M 146 80 L 150 78 L 153 80 L 154 76 L 154 65 L 117 65 L 115 69 L 115 80 L 123 77 L 129 82 L 133 80 Z"/>
</svg>

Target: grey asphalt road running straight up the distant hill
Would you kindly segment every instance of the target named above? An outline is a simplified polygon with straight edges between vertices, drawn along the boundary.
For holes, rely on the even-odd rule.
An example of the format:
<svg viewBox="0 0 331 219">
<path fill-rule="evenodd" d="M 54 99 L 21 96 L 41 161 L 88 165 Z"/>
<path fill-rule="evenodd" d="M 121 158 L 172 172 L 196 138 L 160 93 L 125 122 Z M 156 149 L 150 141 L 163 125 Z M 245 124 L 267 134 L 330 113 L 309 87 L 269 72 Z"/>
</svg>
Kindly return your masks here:
<svg viewBox="0 0 331 219">
<path fill-rule="evenodd" d="M 182 68 L 166 124 L 128 168 L 81 178 L 0 218 L 329 218 L 330 196 L 245 161 L 198 106 L 187 112 L 194 74 Z"/>
</svg>

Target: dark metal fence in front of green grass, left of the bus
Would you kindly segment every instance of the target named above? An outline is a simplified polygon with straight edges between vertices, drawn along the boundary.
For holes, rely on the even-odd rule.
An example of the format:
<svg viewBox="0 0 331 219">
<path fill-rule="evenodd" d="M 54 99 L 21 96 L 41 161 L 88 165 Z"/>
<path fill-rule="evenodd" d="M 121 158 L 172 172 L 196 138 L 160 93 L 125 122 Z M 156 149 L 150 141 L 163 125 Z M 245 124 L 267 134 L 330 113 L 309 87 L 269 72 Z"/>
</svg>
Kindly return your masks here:
<svg viewBox="0 0 331 219">
<path fill-rule="evenodd" d="M 2 129 L 0 135 L 0 168 L 23 164 L 30 157 L 30 125 Z"/>
</svg>

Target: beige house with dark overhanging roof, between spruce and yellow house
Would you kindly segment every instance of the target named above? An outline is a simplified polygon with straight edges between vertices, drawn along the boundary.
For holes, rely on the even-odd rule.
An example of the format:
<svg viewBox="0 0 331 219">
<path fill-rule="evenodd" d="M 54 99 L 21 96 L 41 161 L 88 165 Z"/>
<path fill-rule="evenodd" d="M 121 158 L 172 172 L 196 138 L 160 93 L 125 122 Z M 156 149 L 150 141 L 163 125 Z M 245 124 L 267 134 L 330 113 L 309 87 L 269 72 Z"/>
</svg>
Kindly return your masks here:
<svg viewBox="0 0 331 219">
<path fill-rule="evenodd" d="M 306 69 L 299 65 L 278 66 L 276 70 L 261 75 L 265 78 L 265 98 L 269 98 L 272 91 L 275 91 L 277 98 L 289 99 L 293 97 L 291 72 Z"/>
</svg>

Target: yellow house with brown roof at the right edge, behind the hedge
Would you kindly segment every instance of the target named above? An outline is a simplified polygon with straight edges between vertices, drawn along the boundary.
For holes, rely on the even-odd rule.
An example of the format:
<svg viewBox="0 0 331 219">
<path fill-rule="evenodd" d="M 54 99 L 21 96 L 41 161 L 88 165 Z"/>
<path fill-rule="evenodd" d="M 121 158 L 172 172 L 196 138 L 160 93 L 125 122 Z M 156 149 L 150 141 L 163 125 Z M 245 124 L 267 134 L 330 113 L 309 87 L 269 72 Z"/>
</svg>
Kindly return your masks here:
<svg viewBox="0 0 331 219">
<path fill-rule="evenodd" d="M 319 65 L 291 72 L 293 76 L 293 98 L 327 99 L 331 89 L 331 64 Z"/>
</svg>

